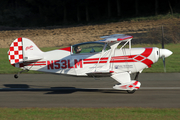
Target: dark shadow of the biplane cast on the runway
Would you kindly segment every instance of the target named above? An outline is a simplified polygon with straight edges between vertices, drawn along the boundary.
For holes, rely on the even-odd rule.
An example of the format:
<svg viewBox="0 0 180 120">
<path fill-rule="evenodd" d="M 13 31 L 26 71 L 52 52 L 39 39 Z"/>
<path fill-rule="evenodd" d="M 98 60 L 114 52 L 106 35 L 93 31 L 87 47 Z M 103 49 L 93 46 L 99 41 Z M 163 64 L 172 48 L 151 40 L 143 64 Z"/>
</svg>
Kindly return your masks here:
<svg viewBox="0 0 180 120">
<path fill-rule="evenodd" d="M 50 87 L 50 88 L 31 88 L 27 84 L 4 84 L 6 88 L 1 88 L 0 91 L 44 91 L 44 94 L 72 94 L 76 92 L 100 92 L 100 93 L 114 93 L 114 94 L 127 94 L 125 91 L 113 89 L 88 89 L 76 87 Z"/>
</svg>

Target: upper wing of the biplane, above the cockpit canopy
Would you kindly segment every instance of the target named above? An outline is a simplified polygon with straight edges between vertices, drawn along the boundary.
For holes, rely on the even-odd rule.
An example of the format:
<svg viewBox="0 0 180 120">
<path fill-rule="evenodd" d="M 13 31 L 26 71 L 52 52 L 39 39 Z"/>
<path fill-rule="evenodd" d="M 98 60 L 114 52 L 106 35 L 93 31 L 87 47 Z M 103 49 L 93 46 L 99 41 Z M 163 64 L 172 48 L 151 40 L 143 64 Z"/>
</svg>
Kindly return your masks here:
<svg viewBox="0 0 180 120">
<path fill-rule="evenodd" d="M 101 38 L 104 38 L 103 40 L 99 40 L 99 42 L 117 42 L 117 41 L 128 41 L 133 38 L 133 36 L 125 35 L 125 34 L 114 34 L 109 36 L 102 36 Z"/>
</svg>

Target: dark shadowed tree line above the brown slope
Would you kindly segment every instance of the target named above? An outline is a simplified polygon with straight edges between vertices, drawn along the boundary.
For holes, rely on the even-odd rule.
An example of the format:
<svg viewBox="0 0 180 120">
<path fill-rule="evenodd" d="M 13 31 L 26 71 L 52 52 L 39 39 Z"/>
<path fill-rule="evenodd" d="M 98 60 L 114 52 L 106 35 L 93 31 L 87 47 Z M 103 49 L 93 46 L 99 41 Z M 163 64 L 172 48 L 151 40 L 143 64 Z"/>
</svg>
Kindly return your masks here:
<svg viewBox="0 0 180 120">
<path fill-rule="evenodd" d="M 48 26 L 174 14 L 179 0 L 0 0 L 0 24 Z"/>
</svg>

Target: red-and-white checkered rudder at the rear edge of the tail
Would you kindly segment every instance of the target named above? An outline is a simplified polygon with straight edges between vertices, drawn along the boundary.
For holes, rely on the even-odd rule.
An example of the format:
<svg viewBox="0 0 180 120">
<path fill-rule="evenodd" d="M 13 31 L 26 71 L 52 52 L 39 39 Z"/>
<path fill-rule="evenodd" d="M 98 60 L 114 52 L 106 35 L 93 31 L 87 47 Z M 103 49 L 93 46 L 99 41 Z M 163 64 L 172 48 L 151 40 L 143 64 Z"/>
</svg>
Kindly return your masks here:
<svg viewBox="0 0 180 120">
<path fill-rule="evenodd" d="M 22 53 L 22 38 L 17 38 L 11 44 L 9 48 L 9 62 L 15 66 L 15 63 L 20 63 L 23 61 L 23 53 Z"/>
</svg>

